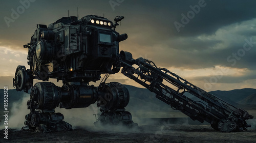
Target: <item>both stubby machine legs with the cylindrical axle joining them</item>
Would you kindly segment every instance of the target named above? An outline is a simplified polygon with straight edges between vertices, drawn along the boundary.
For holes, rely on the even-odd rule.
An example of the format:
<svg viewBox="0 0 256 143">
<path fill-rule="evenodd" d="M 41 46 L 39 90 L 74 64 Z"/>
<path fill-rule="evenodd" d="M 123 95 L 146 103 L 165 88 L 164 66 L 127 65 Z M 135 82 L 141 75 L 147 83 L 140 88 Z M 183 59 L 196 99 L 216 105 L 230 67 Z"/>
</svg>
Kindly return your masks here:
<svg viewBox="0 0 256 143">
<path fill-rule="evenodd" d="M 93 85 L 75 84 L 64 84 L 60 88 L 52 82 L 37 82 L 27 103 L 30 113 L 26 115 L 26 128 L 45 133 L 72 130 L 72 126 L 63 121 L 63 115 L 55 113 L 54 109 L 57 106 L 66 109 L 84 108 L 96 101 L 102 112 L 96 125 L 138 126 L 132 121 L 131 113 L 124 109 L 129 103 L 129 92 L 118 82 L 106 83 L 100 89 Z"/>
</svg>

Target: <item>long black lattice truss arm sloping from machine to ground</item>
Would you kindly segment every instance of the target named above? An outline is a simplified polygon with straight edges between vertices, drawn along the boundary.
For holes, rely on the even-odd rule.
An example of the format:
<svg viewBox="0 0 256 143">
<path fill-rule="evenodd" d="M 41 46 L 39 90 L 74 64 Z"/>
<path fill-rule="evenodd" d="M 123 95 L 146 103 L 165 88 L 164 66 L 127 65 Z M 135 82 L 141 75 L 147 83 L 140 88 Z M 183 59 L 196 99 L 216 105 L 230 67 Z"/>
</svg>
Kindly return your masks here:
<svg viewBox="0 0 256 143">
<path fill-rule="evenodd" d="M 137 65 L 137 68 L 133 65 Z M 253 118 L 247 111 L 234 107 L 165 68 L 157 67 L 152 61 L 131 59 L 122 62 L 122 67 L 125 76 L 156 93 L 158 99 L 173 109 L 201 123 L 206 121 L 217 130 L 243 130 L 249 127 L 245 120 Z"/>
</svg>

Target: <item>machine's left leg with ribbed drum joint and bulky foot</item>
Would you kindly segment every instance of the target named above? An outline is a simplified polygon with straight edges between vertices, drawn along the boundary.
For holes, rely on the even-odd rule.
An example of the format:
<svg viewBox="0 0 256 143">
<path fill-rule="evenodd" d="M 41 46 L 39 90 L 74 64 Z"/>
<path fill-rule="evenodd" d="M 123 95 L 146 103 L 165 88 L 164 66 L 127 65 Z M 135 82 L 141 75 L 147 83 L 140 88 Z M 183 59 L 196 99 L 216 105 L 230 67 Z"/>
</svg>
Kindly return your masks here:
<svg viewBox="0 0 256 143">
<path fill-rule="evenodd" d="M 26 127 L 23 129 L 29 128 L 44 133 L 72 130 L 72 126 L 63 121 L 64 116 L 54 111 L 62 99 L 59 91 L 60 88 L 51 82 L 37 82 L 34 85 L 27 103 L 30 113 L 26 115 Z"/>
</svg>

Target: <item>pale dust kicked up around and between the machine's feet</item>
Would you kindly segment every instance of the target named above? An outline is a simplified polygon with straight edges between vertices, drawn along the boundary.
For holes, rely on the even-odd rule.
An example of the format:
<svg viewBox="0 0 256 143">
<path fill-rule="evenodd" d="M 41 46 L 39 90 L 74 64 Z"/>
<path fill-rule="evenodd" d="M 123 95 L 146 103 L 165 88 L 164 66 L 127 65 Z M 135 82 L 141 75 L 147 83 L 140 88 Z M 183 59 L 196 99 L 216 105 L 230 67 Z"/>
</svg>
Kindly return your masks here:
<svg viewBox="0 0 256 143">
<path fill-rule="evenodd" d="M 22 100 L 17 102 L 13 102 L 10 106 L 11 110 L 9 112 L 9 120 L 8 120 L 8 128 L 20 130 L 24 127 L 25 116 L 30 112 L 27 109 L 27 101 L 30 100 L 30 96 L 26 95 L 23 97 Z M 131 101 L 130 101 L 131 102 Z M 141 102 L 141 101 L 139 101 Z M 127 106 L 127 111 L 132 113 L 134 123 L 138 123 L 139 126 L 143 125 L 161 125 L 165 123 L 164 121 L 158 121 L 154 119 L 141 119 L 144 118 L 159 118 L 165 115 L 158 115 L 156 106 L 153 106 L 152 103 L 146 104 L 145 101 L 142 101 L 143 107 L 141 103 L 138 104 L 138 101 L 135 103 L 130 103 Z M 138 109 L 140 106 L 140 110 Z M 144 110 L 143 110 L 144 109 Z M 145 110 L 147 110 L 145 112 Z M 65 122 L 72 125 L 73 129 L 86 129 L 91 131 L 109 131 L 109 132 L 140 132 L 140 128 L 129 128 L 122 125 L 102 125 L 102 126 L 95 126 L 94 122 L 97 121 L 98 117 L 100 116 L 99 108 L 97 107 L 96 103 L 91 104 L 87 108 L 72 108 L 72 109 L 65 109 L 65 108 L 55 108 L 55 112 L 60 112 L 64 116 Z M 148 113 L 154 113 L 152 116 L 146 116 Z M 169 122 L 169 121 L 168 121 Z M 185 122 L 184 122 L 185 123 Z M 173 123 L 172 123 L 173 124 Z M 0 127 L 1 129 L 4 128 L 4 124 Z M 149 130 L 148 130 L 149 131 Z"/>
</svg>

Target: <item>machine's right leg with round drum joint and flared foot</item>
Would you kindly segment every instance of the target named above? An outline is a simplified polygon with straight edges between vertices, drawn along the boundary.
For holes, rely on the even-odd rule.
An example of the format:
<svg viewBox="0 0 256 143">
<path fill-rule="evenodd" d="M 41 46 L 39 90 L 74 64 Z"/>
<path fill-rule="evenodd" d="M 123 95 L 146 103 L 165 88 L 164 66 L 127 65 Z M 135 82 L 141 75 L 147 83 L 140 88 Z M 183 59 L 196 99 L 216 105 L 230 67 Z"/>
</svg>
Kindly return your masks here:
<svg viewBox="0 0 256 143">
<path fill-rule="evenodd" d="M 131 113 L 124 109 L 130 99 L 129 91 L 124 85 L 118 82 L 106 83 L 99 92 L 101 94 L 97 106 L 102 113 L 94 124 L 138 127 L 138 124 L 132 121 Z"/>
</svg>

